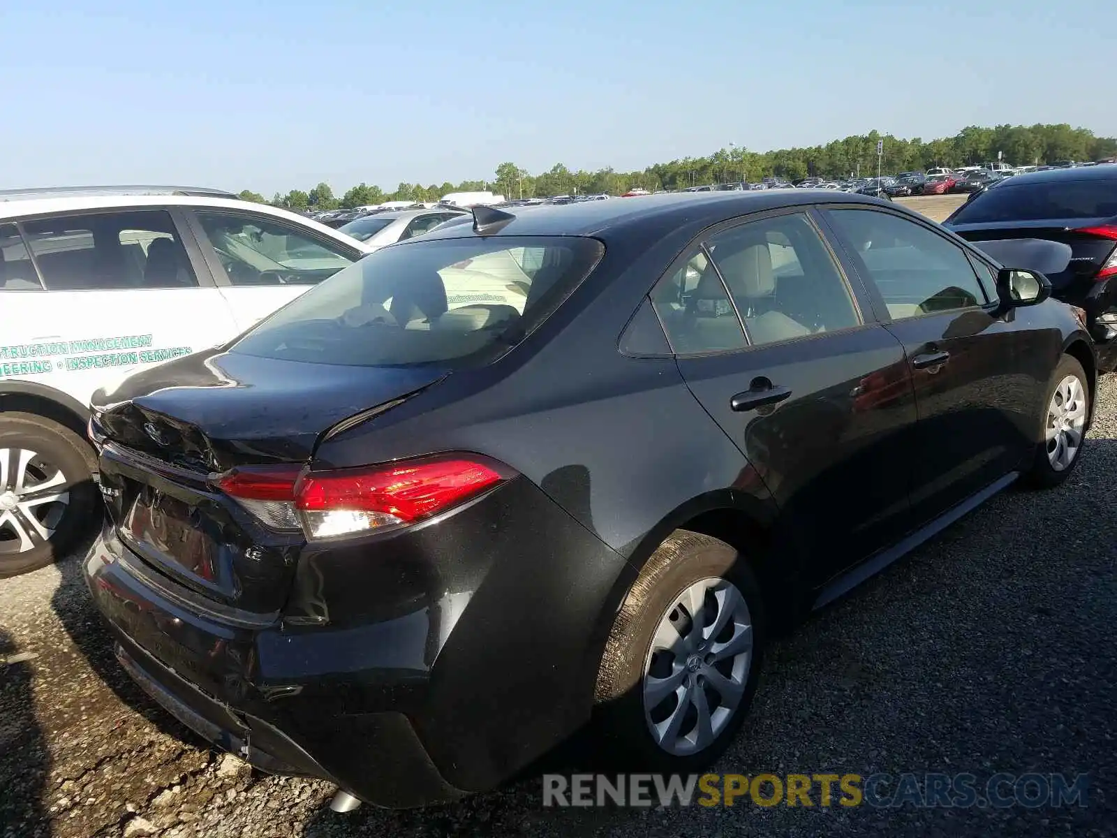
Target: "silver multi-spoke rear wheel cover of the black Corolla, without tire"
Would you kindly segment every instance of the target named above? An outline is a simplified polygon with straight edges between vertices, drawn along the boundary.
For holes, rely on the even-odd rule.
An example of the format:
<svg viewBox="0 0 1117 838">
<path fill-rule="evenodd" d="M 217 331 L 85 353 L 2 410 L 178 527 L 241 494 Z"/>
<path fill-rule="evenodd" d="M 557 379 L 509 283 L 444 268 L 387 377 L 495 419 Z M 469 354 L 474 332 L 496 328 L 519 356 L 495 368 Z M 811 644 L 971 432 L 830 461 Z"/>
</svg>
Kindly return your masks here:
<svg viewBox="0 0 1117 838">
<path fill-rule="evenodd" d="M 663 612 L 643 665 L 643 715 L 670 754 L 709 746 L 733 718 L 748 682 L 748 604 L 725 579 L 701 579 Z"/>
</svg>

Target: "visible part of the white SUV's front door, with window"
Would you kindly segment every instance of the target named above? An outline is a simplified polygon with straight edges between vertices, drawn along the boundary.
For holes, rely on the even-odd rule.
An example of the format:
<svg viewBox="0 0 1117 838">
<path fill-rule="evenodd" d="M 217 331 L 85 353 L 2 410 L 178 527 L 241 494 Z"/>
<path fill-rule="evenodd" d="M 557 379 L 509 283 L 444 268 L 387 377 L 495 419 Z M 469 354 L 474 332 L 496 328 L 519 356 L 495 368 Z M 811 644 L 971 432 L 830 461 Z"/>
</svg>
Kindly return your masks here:
<svg viewBox="0 0 1117 838">
<path fill-rule="evenodd" d="M 204 207 L 184 212 L 238 331 L 363 256 L 356 247 L 262 212 Z"/>
</svg>

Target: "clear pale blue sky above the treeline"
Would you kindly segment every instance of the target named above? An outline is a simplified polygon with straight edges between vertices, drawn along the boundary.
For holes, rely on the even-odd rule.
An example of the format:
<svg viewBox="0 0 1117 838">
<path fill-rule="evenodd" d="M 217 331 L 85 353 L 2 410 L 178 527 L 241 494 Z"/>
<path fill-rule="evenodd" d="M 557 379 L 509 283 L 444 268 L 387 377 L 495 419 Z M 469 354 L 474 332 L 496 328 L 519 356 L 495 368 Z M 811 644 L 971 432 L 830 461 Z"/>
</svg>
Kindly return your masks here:
<svg viewBox="0 0 1117 838">
<path fill-rule="evenodd" d="M 341 193 L 873 127 L 1117 134 L 1113 0 L 0 4 L 0 188 Z"/>
</svg>

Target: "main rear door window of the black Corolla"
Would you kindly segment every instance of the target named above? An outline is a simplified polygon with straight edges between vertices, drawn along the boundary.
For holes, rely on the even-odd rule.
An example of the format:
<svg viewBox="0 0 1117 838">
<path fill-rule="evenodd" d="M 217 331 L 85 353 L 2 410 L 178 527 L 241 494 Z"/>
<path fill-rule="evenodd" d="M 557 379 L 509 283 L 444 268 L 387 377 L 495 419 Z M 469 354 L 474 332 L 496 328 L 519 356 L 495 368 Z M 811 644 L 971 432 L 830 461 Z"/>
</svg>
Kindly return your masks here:
<svg viewBox="0 0 1117 838">
<path fill-rule="evenodd" d="M 750 343 L 802 337 L 860 324 L 846 282 L 805 216 L 777 216 L 706 242 Z"/>
</svg>

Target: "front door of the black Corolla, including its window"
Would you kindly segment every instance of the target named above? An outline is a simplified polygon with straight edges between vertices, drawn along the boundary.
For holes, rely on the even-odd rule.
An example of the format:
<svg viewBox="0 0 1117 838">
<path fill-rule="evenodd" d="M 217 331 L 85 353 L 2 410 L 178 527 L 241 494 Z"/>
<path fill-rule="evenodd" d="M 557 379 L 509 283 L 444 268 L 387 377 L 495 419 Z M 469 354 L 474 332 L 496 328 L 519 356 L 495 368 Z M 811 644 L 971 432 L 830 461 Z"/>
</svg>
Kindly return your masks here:
<svg viewBox="0 0 1117 838">
<path fill-rule="evenodd" d="M 1047 388 L 1028 364 L 1058 346 L 1020 322 L 1025 310 L 1000 313 L 992 269 L 929 223 L 865 207 L 824 215 L 907 353 L 919 427 L 905 456 L 923 523 L 1019 466 Z"/>
</svg>

